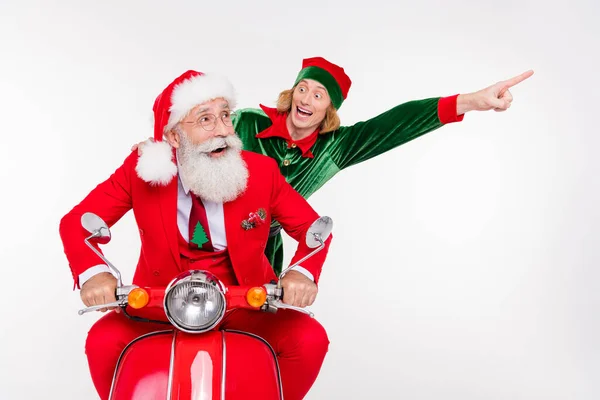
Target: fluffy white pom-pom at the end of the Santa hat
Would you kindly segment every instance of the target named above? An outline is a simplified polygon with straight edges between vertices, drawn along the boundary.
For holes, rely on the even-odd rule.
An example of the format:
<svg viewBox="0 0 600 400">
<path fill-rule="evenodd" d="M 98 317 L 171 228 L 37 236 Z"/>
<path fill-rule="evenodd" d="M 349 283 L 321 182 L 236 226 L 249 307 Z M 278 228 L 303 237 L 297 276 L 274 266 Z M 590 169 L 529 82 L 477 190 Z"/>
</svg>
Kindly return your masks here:
<svg viewBox="0 0 600 400">
<path fill-rule="evenodd" d="M 141 179 L 152 185 L 166 185 L 171 182 L 177 175 L 171 145 L 166 141 L 144 142 L 135 171 Z"/>
</svg>

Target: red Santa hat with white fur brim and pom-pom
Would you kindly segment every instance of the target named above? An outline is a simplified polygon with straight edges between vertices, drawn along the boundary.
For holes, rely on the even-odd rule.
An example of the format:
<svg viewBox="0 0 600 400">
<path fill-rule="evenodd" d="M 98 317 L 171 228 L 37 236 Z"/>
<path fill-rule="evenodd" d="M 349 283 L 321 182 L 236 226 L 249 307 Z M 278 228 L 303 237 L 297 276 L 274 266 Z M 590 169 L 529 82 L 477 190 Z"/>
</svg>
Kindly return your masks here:
<svg viewBox="0 0 600 400">
<path fill-rule="evenodd" d="M 165 133 L 198 104 L 224 98 L 235 108 L 235 93 L 224 77 L 186 71 L 169 84 L 154 101 L 154 142 L 145 144 L 136 165 L 137 175 L 153 185 L 166 185 L 177 175 L 173 149 Z"/>
</svg>

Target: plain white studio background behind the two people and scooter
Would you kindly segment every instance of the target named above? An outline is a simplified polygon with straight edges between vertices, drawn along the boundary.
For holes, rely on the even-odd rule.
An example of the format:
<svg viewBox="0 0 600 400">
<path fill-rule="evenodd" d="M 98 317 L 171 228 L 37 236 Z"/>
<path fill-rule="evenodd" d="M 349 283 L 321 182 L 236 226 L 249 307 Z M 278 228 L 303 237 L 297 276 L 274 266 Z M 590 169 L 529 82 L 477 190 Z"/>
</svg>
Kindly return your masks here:
<svg viewBox="0 0 600 400">
<path fill-rule="evenodd" d="M 335 242 L 309 398 L 600 398 L 600 6 L 357 4 L 0 2 L 1 399 L 95 398 L 83 346 L 99 315 L 77 315 L 58 223 L 152 135 L 158 93 L 217 71 L 240 106 L 272 106 L 317 55 L 354 82 L 344 125 L 535 75 L 508 112 L 469 113 L 310 198 Z M 113 237 L 127 281 L 131 214 Z"/>
</svg>

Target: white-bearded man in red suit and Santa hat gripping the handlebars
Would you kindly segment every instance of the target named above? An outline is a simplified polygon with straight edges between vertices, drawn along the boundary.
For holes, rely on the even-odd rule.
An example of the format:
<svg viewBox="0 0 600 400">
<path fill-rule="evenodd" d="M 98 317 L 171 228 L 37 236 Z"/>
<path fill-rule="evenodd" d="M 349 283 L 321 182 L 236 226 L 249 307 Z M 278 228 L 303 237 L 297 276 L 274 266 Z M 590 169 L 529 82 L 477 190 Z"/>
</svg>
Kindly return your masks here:
<svg viewBox="0 0 600 400">
<path fill-rule="evenodd" d="M 292 263 L 311 249 L 304 243 L 319 215 L 285 181 L 269 157 L 243 151 L 234 134 L 233 88 L 223 78 L 187 71 L 154 103 L 154 140 L 124 163 L 63 217 L 60 235 L 75 285 L 86 306 L 115 301 L 116 278 L 84 244 L 80 218 L 92 212 L 109 226 L 133 209 L 141 254 L 133 283 L 167 286 L 181 271 L 203 269 L 225 284 L 276 280 L 264 254 L 276 219 L 299 245 Z M 317 294 L 326 248 L 281 280 L 285 303 L 305 307 Z M 164 325 L 136 322 L 117 310 L 88 333 L 86 355 L 102 399 L 109 396 L 121 351 L 136 337 Z M 324 328 L 291 310 L 275 314 L 236 310 L 223 328 L 267 340 L 278 355 L 286 399 L 301 399 L 314 383 L 328 349 Z"/>
</svg>

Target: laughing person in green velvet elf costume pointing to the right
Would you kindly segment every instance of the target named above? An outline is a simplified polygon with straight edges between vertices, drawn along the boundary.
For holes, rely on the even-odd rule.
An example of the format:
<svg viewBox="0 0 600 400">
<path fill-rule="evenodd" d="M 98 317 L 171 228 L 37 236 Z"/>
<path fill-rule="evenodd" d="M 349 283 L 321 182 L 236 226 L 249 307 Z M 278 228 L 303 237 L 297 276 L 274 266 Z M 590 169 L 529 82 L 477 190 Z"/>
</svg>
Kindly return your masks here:
<svg viewBox="0 0 600 400">
<path fill-rule="evenodd" d="M 462 121 L 469 111 L 507 110 L 513 100 L 509 89 L 532 74 L 527 71 L 473 93 L 409 101 L 369 120 L 340 126 L 336 111 L 352 82 L 342 67 L 313 57 L 303 60 L 292 88 L 279 95 L 276 108 L 261 104 L 260 110 L 238 110 L 234 128 L 245 150 L 275 159 L 286 180 L 308 199 L 341 170 Z M 145 145 L 136 146 L 141 152 Z M 276 273 L 283 263 L 280 230 L 273 221 L 265 249 Z"/>
</svg>

